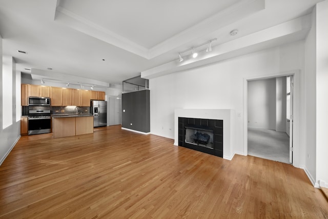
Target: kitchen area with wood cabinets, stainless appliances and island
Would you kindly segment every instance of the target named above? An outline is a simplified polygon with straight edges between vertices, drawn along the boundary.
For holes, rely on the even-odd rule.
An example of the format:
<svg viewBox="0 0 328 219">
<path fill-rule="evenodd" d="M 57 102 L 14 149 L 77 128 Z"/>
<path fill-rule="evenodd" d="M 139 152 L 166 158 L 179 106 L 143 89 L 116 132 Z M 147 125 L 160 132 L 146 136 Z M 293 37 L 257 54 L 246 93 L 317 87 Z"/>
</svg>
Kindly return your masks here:
<svg viewBox="0 0 328 219">
<path fill-rule="evenodd" d="M 21 135 L 54 138 L 93 133 L 107 126 L 104 91 L 22 84 Z"/>
</svg>

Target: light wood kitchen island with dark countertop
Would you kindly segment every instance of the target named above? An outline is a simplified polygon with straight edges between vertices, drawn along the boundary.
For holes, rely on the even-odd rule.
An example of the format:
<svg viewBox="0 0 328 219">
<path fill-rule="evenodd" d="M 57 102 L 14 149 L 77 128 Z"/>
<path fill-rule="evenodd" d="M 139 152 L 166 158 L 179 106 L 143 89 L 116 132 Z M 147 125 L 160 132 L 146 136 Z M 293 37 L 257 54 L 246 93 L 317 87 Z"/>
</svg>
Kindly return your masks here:
<svg viewBox="0 0 328 219">
<path fill-rule="evenodd" d="M 51 117 L 54 138 L 93 133 L 92 114 L 53 114 Z"/>
</svg>

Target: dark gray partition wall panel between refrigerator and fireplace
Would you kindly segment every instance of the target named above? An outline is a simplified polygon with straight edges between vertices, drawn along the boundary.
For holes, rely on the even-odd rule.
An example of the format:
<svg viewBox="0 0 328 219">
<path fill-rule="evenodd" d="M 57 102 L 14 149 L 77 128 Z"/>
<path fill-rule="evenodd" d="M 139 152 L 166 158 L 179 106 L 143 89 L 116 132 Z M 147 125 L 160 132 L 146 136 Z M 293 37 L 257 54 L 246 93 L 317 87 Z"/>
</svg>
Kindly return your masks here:
<svg viewBox="0 0 328 219">
<path fill-rule="evenodd" d="M 122 94 L 122 128 L 150 132 L 150 91 Z"/>
</svg>

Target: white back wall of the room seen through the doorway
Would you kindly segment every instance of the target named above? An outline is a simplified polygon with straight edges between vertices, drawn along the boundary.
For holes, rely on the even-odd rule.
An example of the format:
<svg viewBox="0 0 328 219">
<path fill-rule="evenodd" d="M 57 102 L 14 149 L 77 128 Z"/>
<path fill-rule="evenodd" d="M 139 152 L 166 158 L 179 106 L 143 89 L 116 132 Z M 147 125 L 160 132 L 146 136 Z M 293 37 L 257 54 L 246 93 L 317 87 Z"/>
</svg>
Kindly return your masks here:
<svg viewBox="0 0 328 219">
<path fill-rule="evenodd" d="M 248 82 L 248 127 L 276 129 L 276 78 Z"/>
</svg>

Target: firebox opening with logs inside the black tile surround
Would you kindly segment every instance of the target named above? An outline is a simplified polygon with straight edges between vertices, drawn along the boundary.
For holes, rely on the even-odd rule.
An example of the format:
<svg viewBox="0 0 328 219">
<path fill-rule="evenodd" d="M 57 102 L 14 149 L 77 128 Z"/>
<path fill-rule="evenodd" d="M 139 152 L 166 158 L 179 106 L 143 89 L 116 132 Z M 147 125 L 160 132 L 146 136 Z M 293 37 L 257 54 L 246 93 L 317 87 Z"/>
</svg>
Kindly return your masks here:
<svg viewBox="0 0 328 219">
<path fill-rule="evenodd" d="M 198 145 L 207 148 L 214 148 L 213 146 L 213 130 L 185 127 L 186 139 L 185 142 L 193 145 Z"/>
</svg>

